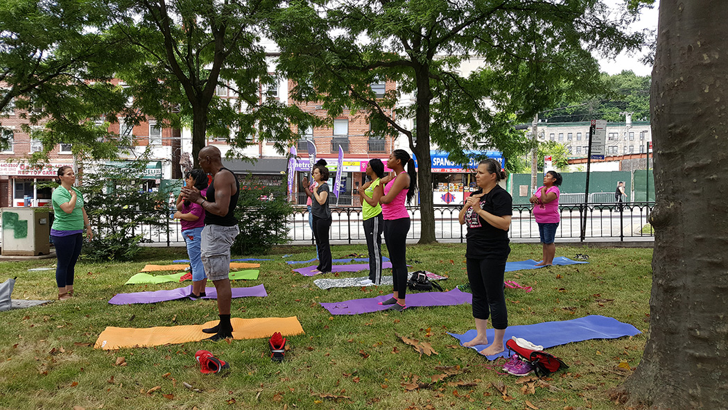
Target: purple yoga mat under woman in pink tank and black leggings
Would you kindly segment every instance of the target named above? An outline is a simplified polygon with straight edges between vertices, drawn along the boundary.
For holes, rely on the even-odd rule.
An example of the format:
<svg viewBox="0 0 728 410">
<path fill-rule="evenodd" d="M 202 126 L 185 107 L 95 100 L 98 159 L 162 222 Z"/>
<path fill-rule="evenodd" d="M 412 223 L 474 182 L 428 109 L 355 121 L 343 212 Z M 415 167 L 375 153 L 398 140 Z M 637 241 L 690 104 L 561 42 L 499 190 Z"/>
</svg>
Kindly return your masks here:
<svg viewBox="0 0 728 410">
<path fill-rule="evenodd" d="M 334 303 L 322 303 L 321 306 L 331 312 L 331 315 L 359 315 L 361 313 L 371 313 L 389 309 L 388 305 L 381 305 L 378 303 L 380 301 L 386 301 L 391 297 L 392 295 L 386 295 L 368 299 L 353 299 Z M 449 292 L 409 293 L 406 300 L 408 308 L 451 306 L 454 304 L 472 304 L 472 294 L 462 292 L 456 288 Z"/>
</svg>

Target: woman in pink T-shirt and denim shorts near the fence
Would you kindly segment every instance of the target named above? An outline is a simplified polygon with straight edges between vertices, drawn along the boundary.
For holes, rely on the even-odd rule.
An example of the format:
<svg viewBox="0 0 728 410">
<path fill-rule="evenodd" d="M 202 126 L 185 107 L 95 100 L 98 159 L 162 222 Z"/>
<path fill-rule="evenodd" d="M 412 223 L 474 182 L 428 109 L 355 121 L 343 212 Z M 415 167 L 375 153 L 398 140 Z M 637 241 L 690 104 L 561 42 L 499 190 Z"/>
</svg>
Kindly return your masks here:
<svg viewBox="0 0 728 410">
<path fill-rule="evenodd" d="M 537 267 L 553 265 L 553 257 L 556 255 L 556 228 L 561 222 L 561 214 L 558 213 L 558 197 L 561 192 L 558 186 L 561 185 L 561 174 L 556 171 L 549 171 L 544 175 L 544 185 L 540 187 L 529 202 L 534 204 L 534 218 L 539 224 L 539 237 L 543 246 L 543 259 Z"/>
</svg>

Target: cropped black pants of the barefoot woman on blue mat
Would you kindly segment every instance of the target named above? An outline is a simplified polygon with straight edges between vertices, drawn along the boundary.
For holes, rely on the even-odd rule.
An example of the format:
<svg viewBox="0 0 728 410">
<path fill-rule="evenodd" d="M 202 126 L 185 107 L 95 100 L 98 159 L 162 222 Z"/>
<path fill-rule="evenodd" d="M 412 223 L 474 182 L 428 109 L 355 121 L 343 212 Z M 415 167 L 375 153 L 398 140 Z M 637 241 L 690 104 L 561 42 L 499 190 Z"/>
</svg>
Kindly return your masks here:
<svg viewBox="0 0 728 410">
<path fill-rule="evenodd" d="M 503 294 L 505 261 L 502 259 L 467 258 L 467 279 L 472 290 L 472 317 L 488 320 L 493 328 L 508 327 L 508 312 Z"/>
</svg>

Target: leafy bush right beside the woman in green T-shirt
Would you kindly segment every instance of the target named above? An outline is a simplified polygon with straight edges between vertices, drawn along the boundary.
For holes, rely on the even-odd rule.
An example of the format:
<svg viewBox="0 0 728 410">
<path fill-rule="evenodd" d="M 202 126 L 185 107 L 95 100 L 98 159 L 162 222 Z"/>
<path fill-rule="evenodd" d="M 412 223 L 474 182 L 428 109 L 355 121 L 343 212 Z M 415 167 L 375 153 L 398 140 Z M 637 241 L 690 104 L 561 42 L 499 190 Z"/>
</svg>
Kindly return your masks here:
<svg viewBox="0 0 728 410">
<path fill-rule="evenodd" d="M 83 174 L 86 213 L 94 229 L 84 256 L 96 261 L 127 261 L 141 247 L 143 231 L 167 229 L 167 192 L 141 189 L 146 160 L 95 165 Z"/>
</svg>

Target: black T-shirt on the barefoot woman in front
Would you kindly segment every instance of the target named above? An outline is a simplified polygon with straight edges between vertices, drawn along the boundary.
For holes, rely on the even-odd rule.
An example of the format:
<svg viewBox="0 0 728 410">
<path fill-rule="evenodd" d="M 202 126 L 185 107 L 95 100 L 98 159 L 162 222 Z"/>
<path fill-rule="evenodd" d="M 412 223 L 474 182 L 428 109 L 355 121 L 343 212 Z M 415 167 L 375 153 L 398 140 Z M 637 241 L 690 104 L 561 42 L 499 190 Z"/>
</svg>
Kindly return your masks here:
<svg viewBox="0 0 728 410">
<path fill-rule="evenodd" d="M 478 189 L 471 195 L 482 193 L 483 189 Z M 513 198 L 505 189 L 496 185 L 491 192 L 480 197 L 480 208 L 495 216 L 513 215 Z M 508 231 L 488 224 L 472 208 L 465 212 L 465 224 L 467 225 L 466 258 L 507 258 L 510 253 Z"/>
</svg>

